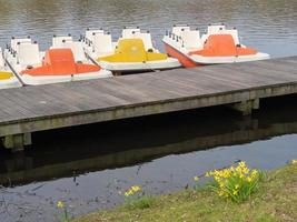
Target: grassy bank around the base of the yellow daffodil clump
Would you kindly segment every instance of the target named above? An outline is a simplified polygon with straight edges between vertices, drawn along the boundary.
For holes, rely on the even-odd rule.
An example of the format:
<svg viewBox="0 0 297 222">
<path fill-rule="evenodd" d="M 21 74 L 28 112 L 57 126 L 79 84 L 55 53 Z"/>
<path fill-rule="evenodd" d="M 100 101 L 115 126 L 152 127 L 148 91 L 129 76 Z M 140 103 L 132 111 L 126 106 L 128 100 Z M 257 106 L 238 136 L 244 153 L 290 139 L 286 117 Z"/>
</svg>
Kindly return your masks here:
<svg viewBox="0 0 297 222">
<path fill-rule="evenodd" d="M 99 221 L 297 221 L 297 164 L 267 173 L 260 190 L 244 203 L 221 199 L 202 188 L 147 198 L 135 205 L 126 204 L 75 220 Z"/>
</svg>

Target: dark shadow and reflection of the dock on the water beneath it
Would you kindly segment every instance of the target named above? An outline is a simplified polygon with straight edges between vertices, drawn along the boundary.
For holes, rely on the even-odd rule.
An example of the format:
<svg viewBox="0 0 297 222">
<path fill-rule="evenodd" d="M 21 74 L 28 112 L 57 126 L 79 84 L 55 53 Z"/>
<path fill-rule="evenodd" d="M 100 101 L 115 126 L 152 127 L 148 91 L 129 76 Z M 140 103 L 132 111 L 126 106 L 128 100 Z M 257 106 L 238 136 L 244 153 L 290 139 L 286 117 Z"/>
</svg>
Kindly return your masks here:
<svg viewBox="0 0 297 222">
<path fill-rule="evenodd" d="M 297 107 L 274 109 L 245 119 L 218 108 L 38 133 L 32 150 L 14 155 L 1 154 L 0 183 L 19 185 L 75 176 L 169 154 L 297 133 Z"/>
</svg>

